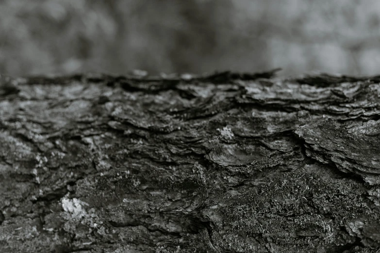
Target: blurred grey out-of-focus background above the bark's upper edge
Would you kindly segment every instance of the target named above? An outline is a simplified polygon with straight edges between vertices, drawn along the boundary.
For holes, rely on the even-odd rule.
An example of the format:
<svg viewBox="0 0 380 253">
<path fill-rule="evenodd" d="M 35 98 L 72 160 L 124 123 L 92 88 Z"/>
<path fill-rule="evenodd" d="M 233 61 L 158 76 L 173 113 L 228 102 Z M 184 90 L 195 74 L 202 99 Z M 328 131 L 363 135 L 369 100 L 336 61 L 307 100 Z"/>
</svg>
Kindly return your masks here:
<svg viewBox="0 0 380 253">
<path fill-rule="evenodd" d="M 379 0 L 0 0 L 0 73 L 380 74 Z"/>
</svg>

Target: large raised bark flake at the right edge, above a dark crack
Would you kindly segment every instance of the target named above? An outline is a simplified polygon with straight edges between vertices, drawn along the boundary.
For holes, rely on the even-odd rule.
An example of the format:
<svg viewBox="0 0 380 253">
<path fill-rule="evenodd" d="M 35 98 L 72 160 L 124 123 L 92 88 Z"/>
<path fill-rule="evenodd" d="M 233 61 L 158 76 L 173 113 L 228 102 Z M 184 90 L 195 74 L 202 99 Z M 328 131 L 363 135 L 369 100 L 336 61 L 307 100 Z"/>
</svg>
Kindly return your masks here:
<svg viewBox="0 0 380 253">
<path fill-rule="evenodd" d="M 370 184 L 380 184 L 379 136 L 349 133 L 331 120 L 300 126 L 296 134 L 306 142 L 307 155 L 334 163 L 340 171 L 360 175 Z"/>
</svg>

